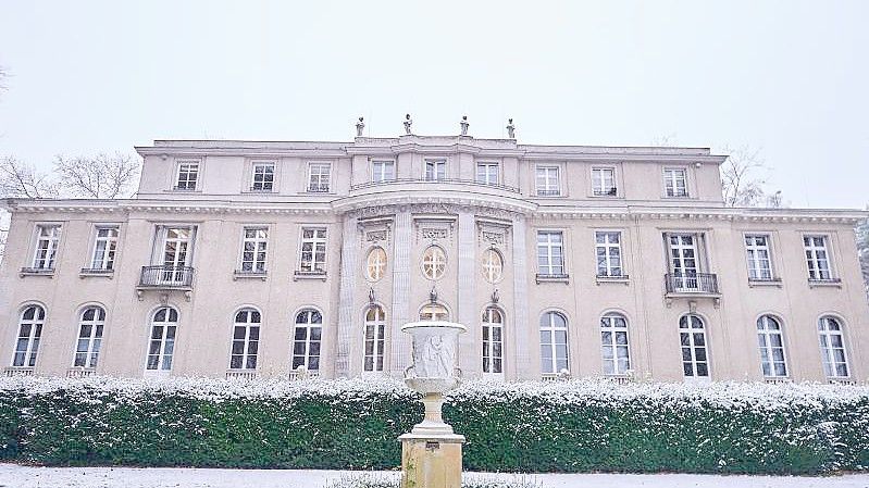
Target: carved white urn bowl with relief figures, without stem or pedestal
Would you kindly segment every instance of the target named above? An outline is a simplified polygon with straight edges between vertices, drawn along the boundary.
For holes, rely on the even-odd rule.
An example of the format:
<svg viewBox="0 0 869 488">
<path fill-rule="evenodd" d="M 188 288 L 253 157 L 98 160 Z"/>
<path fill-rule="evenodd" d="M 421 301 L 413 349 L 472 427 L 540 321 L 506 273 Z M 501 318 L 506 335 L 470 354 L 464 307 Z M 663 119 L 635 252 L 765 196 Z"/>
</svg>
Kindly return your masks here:
<svg viewBox="0 0 869 488">
<path fill-rule="evenodd" d="M 413 340 L 413 364 L 405 371 L 405 384 L 421 393 L 444 393 L 459 386 L 456 367 L 459 334 L 467 327 L 455 322 L 411 322 L 401 330 Z"/>
</svg>

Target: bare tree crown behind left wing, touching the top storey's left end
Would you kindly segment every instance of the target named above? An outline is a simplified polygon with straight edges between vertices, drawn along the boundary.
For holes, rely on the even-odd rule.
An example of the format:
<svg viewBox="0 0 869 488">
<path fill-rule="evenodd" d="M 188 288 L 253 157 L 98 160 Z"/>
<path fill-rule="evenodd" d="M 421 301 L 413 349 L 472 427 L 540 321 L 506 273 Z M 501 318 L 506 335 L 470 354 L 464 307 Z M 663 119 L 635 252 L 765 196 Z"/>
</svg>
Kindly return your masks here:
<svg viewBox="0 0 869 488">
<path fill-rule="evenodd" d="M 114 199 L 128 197 L 139 162 L 129 154 L 63 157 L 54 160 L 61 187 L 75 197 Z"/>
</svg>

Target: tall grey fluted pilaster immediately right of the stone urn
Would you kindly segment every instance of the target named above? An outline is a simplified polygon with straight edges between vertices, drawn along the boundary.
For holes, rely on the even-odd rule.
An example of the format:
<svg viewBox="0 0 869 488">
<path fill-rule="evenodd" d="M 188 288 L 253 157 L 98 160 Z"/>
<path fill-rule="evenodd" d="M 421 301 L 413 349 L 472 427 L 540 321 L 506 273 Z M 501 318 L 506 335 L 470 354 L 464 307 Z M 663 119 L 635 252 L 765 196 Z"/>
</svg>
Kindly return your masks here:
<svg viewBox="0 0 869 488">
<path fill-rule="evenodd" d="M 456 321 L 468 327 L 459 337 L 459 367 L 465 377 L 480 376 L 480 351 L 476 350 L 476 330 L 480 328 L 476 310 L 476 229 L 474 214 L 469 209 L 459 211 L 458 283 Z"/>
</svg>

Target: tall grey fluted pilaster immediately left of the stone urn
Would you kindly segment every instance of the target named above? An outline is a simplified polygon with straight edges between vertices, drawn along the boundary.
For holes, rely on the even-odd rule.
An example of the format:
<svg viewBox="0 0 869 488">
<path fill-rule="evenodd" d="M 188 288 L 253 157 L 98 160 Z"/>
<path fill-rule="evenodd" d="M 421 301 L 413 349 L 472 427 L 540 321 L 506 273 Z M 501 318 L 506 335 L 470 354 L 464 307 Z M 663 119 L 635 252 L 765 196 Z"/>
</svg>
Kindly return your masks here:
<svg viewBox="0 0 869 488">
<path fill-rule="evenodd" d="M 405 368 L 410 365 L 410 337 L 401 333 L 401 326 L 417 320 L 410 316 L 410 248 L 411 248 L 410 210 L 402 209 L 395 215 L 393 233 L 393 326 L 389 329 L 390 353 L 389 371 L 395 377 L 404 377 Z"/>
</svg>

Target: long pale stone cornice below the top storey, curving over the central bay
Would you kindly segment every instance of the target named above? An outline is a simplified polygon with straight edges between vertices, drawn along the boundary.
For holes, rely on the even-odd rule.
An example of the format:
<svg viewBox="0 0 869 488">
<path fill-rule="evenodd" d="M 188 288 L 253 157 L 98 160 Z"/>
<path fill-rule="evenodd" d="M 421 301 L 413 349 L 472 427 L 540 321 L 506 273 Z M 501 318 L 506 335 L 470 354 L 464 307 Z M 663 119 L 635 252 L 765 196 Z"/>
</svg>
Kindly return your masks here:
<svg viewBox="0 0 869 488">
<path fill-rule="evenodd" d="M 371 193 L 345 197 L 333 202 L 229 202 L 177 200 L 41 200 L 5 199 L 2 208 L 13 213 L 194 213 L 194 214 L 281 214 L 336 215 L 360 212 L 368 208 L 407 205 L 450 205 L 450 208 L 485 209 L 514 213 L 541 220 L 612 220 L 612 221 L 695 221 L 738 222 L 748 224 L 805 223 L 855 225 L 869 217 L 869 212 L 839 209 L 732 209 L 721 207 L 618 207 L 578 208 L 538 207 L 523 199 L 468 192 L 445 195 L 438 191 L 389 195 Z"/>
</svg>

